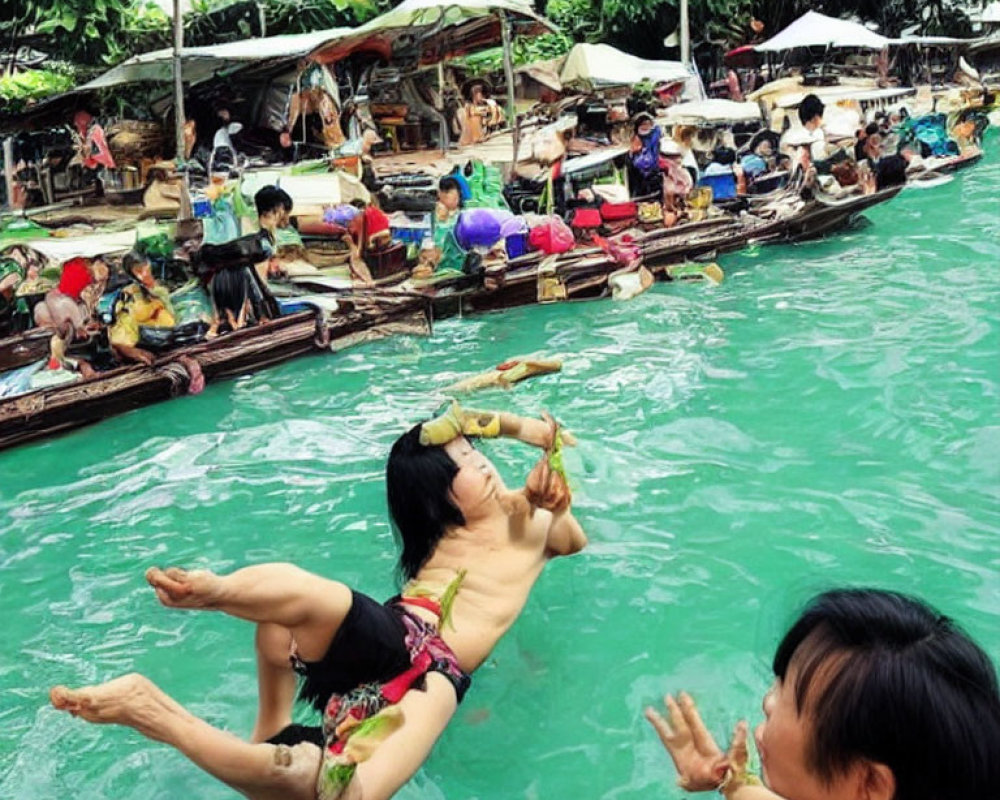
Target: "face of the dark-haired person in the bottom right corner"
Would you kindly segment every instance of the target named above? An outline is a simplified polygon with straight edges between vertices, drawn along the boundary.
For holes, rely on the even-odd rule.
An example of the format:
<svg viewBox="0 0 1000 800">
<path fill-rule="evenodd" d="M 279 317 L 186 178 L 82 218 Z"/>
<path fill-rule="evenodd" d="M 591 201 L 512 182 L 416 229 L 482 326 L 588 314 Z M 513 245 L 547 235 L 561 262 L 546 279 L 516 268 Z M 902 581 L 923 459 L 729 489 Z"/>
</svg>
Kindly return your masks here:
<svg viewBox="0 0 1000 800">
<path fill-rule="evenodd" d="M 859 800 L 854 770 L 826 784 L 809 767 L 811 722 L 796 708 L 795 678 L 791 667 L 784 680 L 775 678 L 764 696 L 765 719 L 754 731 L 764 783 L 787 800 Z"/>
</svg>

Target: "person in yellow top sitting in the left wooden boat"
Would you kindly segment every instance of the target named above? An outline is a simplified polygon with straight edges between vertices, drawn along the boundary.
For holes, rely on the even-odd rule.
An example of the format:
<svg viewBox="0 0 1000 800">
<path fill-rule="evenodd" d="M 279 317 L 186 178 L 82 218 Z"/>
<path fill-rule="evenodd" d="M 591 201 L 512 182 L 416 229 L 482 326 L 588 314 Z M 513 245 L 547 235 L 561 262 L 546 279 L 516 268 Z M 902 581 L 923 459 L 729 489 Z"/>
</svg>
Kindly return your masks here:
<svg viewBox="0 0 1000 800">
<path fill-rule="evenodd" d="M 111 349 L 119 361 L 138 361 L 149 366 L 154 356 L 140 347 L 141 328 L 172 328 L 176 314 L 170 293 L 153 277 L 149 258 L 133 250 L 122 259 L 122 269 L 132 279 L 118 294 L 114 322 L 108 330 Z"/>
</svg>

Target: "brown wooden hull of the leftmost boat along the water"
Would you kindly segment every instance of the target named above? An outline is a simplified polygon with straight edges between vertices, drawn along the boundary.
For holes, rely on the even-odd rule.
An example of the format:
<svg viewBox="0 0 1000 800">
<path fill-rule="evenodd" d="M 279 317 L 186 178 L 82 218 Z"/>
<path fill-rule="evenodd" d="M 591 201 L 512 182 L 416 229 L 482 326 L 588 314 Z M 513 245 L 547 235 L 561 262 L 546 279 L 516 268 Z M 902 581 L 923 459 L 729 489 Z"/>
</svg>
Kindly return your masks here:
<svg viewBox="0 0 1000 800">
<path fill-rule="evenodd" d="M 166 352 L 149 367 L 118 367 L 0 400 L 0 449 L 176 397 L 201 378 L 222 380 L 398 330 L 430 331 L 426 298 L 371 295 L 338 302 L 341 310 L 332 317 L 304 311 Z M 38 336 L 28 338 L 25 346 L 35 346 Z M 47 350 L 48 335 L 44 339 Z"/>
</svg>

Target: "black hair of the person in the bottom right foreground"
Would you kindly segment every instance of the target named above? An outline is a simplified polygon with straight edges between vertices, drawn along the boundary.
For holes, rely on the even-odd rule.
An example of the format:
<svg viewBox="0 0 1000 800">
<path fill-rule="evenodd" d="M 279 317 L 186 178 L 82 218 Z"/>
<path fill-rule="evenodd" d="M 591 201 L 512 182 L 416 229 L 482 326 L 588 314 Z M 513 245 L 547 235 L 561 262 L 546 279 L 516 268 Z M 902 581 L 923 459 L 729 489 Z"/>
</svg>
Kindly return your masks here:
<svg viewBox="0 0 1000 800">
<path fill-rule="evenodd" d="M 794 667 L 807 758 L 827 781 L 860 759 L 885 764 L 894 800 L 1000 793 L 1000 692 L 986 654 L 948 617 L 895 592 L 814 598 L 774 657 Z"/>
</svg>

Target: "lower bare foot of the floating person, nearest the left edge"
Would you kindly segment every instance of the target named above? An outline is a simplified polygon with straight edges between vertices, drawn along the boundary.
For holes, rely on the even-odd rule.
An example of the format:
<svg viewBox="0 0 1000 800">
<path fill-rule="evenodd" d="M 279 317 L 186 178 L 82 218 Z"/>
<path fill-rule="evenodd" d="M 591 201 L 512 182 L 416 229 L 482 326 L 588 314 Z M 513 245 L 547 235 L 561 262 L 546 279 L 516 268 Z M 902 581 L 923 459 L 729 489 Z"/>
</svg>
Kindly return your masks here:
<svg viewBox="0 0 1000 800">
<path fill-rule="evenodd" d="M 164 741 L 163 723 L 188 712 L 156 684 L 138 674 L 123 675 L 97 686 L 69 689 L 55 686 L 49 700 L 60 711 L 98 725 L 126 725 L 151 739 Z"/>
</svg>

